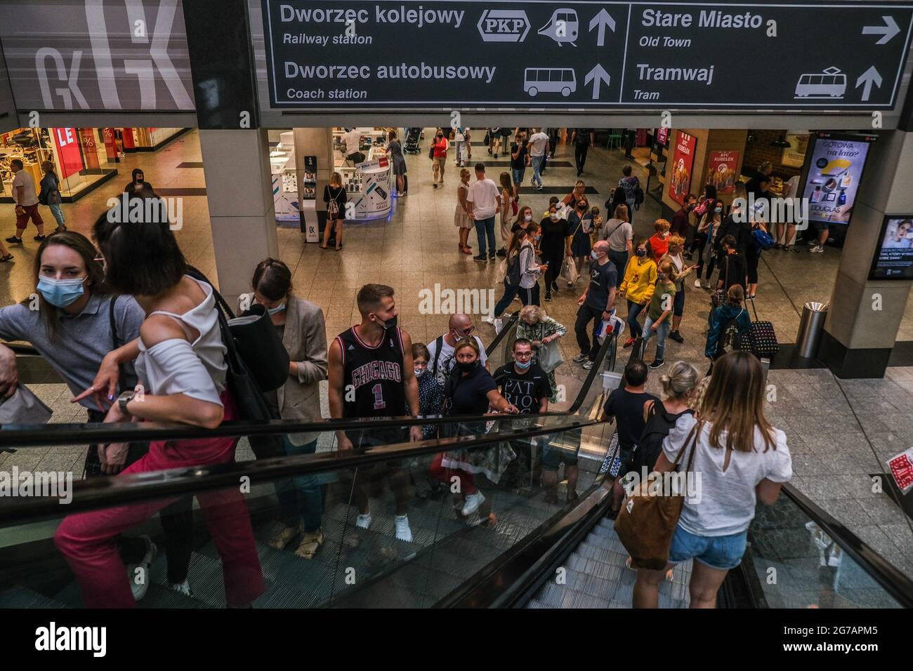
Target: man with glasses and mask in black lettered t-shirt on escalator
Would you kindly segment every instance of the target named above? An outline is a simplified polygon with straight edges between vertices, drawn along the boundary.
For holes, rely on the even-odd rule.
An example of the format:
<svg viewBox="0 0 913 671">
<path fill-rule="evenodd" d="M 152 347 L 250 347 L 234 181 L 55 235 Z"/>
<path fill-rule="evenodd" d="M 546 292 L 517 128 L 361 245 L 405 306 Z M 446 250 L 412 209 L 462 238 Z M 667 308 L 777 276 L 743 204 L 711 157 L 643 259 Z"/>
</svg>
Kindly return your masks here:
<svg viewBox="0 0 913 671">
<path fill-rule="evenodd" d="M 548 412 L 551 384 L 548 375 L 540 369 L 539 365 L 532 362 L 532 342 L 526 338 L 518 338 L 514 341 L 513 350 L 513 362 L 505 363 L 495 371 L 495 383 L 498 384 L 501 395 L 510 404 L 516 405 L 521 414 Z M 532 421 L 530 418 L 530 425 L 532 425 Z M 520 428 L 520 426 L 521 423 L 514 424 L 515 428 Z M 547 444 L 547 436 L 510 441 L 510 446 L 517 453 L 517 458 L 509 465 L 504 474 L 504 482 L 507 487 L 520 489 L 530 485 L 533 448 L 537 442 Z M 576 455 L 574 457 L 573 463 L 576 464 Z M 558 463 L 555 465 L 556 472 L 558 465 Z"/>
</svg>

